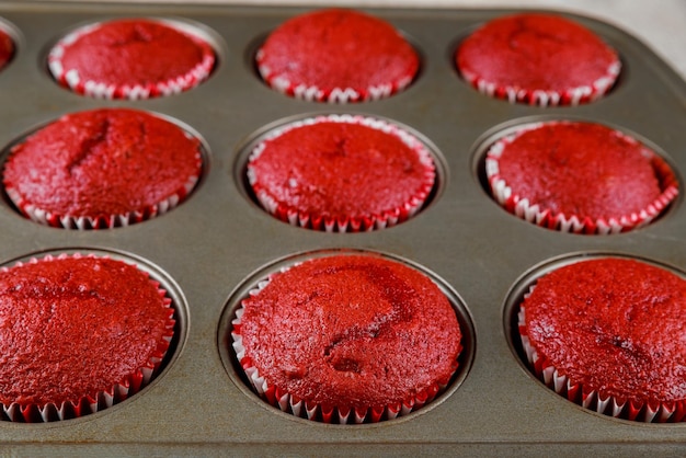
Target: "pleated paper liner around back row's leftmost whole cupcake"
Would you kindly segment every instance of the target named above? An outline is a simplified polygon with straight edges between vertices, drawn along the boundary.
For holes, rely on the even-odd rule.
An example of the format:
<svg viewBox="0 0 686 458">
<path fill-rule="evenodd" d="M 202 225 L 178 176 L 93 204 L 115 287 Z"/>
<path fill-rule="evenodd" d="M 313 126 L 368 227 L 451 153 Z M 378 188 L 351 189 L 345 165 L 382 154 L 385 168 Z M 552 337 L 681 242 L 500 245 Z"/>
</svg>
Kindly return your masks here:
<svg viewBox="0 0 686 458">
<path fill-rule="evenodd" d="M 165 24 L 173 27 L 172 24 Z M 216 56 L 214 48 L 198 36 L 176 28 L 180 33 L 190 37 L 201 48 L 203 56 L 201 62 L 194 68 L 188 69 L 186 73 L 164 81 L 153 81 L 147 84 L 133 85 L 114 83 L 108 84 L 102 81 L 83 80 L 79 75 L 78 69 L 65 69 L 62 65 L 62 56 L 65 50 L 73 42 L 79 39 L 81 36 L 98 30 L 98 27 L 100 27 L 99 24 L 85 25 L 67 34 L 50 49 L 47 57 L 48 69 L 53 75 L 53 78 L 55 78 L 59 84 L 65 88 L 69 88 L 78 94 L 107 100 L 142 100 L 167 96 L 197 87 L 209 77 L 213 68 L 215 67 Z"/>
</svg>

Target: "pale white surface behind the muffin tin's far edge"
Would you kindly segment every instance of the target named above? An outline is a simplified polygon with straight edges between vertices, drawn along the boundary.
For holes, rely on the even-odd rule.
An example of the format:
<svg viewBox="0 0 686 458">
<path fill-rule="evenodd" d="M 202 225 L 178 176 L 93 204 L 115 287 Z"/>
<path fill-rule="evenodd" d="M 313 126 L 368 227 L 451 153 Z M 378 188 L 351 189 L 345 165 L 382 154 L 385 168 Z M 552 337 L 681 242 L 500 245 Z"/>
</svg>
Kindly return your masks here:
<svg viewBox="0 0 686 458">
<path fill-rule="evenodd" d="M 0 0 L 2 1 L 2 0 Z M 59 1 L 59 0 L 50 0 Z M 87 1 L 94 0 L 71 0 Z M 599 19 L 629 32 L 686 79 L 686 0 L 119 0 L 144 3 L 255 5 L 526 8 L 569 11 Z"/>
</svg>

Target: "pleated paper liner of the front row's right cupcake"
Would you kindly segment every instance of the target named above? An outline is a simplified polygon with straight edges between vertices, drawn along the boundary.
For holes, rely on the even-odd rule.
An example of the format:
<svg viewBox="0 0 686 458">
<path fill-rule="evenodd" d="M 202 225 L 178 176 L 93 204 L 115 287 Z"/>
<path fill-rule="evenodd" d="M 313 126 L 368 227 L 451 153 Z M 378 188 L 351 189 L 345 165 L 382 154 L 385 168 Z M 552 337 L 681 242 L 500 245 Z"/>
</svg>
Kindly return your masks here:
<svg viewBox="0 0 686 458">
<path fill-rule="evenodd" d="M 530 291 L 534 287 L 530 288 Z M 522 347 L 533 373 L 546 386 L 558 394 L 585 409 L 617 419 L 638 422 L 676 423 L 686 420 L 686 400 L 678 401 L 644 401 L 641 399 L 621 399 L 613 397 L 602 389 L 591 389 L 583 383 L 570 379 L 562 370 L 545 356 L 540 356 L 529 342 L 526 332 L 525 310 L 521 306 L 517 314 L 517 327 Z"/>
</svg>

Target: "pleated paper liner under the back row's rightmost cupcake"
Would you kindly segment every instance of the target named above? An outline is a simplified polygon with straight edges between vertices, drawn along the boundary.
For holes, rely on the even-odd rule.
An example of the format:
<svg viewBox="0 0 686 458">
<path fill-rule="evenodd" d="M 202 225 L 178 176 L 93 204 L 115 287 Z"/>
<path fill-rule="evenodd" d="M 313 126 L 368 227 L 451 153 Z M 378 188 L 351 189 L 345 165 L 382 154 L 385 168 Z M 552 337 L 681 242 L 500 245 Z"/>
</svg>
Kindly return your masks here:
<svg viewBox="0 0 686 458">
<path fill-rule="evenodd" d="M 462 78 L 479 92 L 495 99 L 504 99 L 510 103 L 525 103 L 538 106 L 575 106 L 593 102 L 605 95 L 615 85 L 621 62 L 611 62 L 605 75 L 586 85 L 568 88 L 563 91 L 525 89 L 516 85 L 500 85 L 470 70 L 460 69 Z"/>
</svg>

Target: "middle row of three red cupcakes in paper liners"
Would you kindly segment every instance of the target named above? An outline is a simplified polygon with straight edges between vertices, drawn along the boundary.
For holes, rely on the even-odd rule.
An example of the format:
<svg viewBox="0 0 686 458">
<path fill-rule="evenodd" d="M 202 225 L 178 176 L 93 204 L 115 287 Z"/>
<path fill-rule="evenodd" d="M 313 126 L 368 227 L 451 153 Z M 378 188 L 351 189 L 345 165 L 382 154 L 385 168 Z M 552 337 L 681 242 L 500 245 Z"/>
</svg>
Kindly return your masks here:
<svg viewBox="0 0 686 458">
<path fill-rule="evenodd" d="M 439 180 L 435 148 L 378 117 L 306 117 L 272 128 L 250 148 L 249 194 L 274 217 L 313 230 L 398 225 L 431 203 Z M 133 108 L 67 114 L 8 149 L 2 183 L 14 207 L 67 229 L 129 226 L 169 211 L 196 187 L 207 153 L 179 124 Z M 552 230 L 632 230 L 678 195 L 661 153 L 599 123 L 523 124 L 483 156 L 492 198 Z"/>
</svg>

